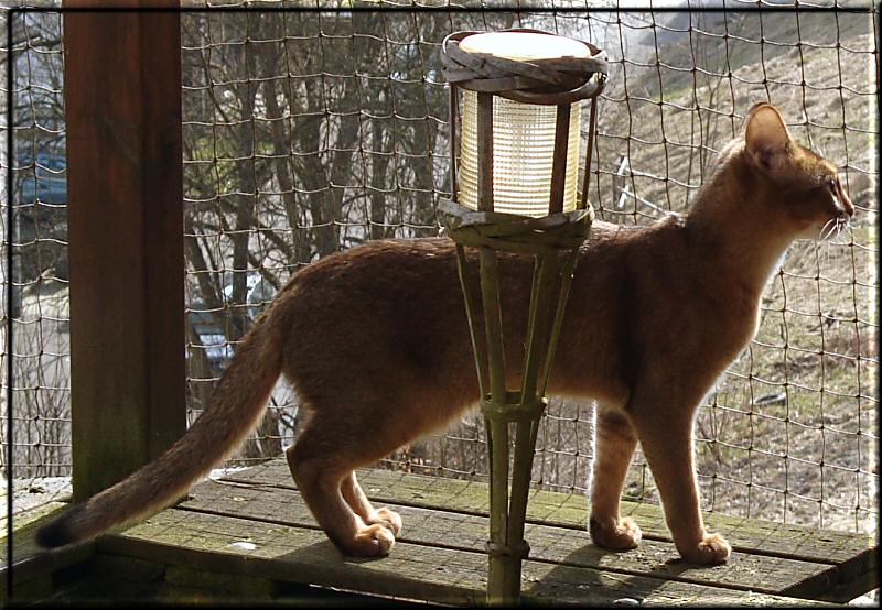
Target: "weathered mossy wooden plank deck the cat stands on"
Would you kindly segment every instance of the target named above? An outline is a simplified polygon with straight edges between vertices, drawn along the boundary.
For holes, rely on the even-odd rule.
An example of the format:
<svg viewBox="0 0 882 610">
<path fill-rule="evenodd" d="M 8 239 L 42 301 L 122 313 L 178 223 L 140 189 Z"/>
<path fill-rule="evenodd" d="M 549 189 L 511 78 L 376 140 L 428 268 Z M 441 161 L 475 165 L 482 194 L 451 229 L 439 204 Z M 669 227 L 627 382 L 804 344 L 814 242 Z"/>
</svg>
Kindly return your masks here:
<svg viewBox="0 0 882 610">
<path fill-rule="evenodd" d="M 485 484 L 387 470 L 362 471 L 359 482 L 373 501 L 404 518 L 405 530 L 388 557 L 343 556 L 315 525 L 284 461 L 272 460 L 201 483 L 176 506 L 100 538 L 94 560 L 100 573 L 126 580 L 130 595 L 138 590 L 133 584 L 162 582 L 201 591 L 191 599 L 292 601 L 297 586 L 310 585 L 483 603 Z M 725 535 L 734 553 L 723 566 L 699 568 L 678 560 L 657 506 L 628 503 L 626 512 L 637 518 L 644 541 L 635 551 L 611 553 L 594 546 L 584 531 L 585 504 L 581 494 L 531 492 L 526 601 L 811 604 L 848 601 L 879 586 L 869 536 L 708 514 L 709 527 Z M 52 565 L 45 556 L 35 560 L 44 570 Z"/>
</svg>

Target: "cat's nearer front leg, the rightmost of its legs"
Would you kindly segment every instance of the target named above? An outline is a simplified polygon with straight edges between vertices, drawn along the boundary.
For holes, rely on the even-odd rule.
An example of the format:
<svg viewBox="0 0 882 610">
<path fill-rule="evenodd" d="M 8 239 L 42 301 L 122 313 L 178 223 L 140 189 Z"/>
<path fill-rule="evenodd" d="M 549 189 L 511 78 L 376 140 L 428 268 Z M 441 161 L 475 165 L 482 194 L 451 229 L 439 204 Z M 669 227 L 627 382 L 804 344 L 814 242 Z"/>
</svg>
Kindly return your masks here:
<svg viewBox="0 0 882 610">
<path fill-rule="evenodd" d="M 695 407 L 687 403 L 632 402 L 628 413 L 662 495 L 677 551 L 695 564 L 725 562 L 732 547 L 719 534 L 707 533 L 701 519 L 692 457 Z"/>
</svg>

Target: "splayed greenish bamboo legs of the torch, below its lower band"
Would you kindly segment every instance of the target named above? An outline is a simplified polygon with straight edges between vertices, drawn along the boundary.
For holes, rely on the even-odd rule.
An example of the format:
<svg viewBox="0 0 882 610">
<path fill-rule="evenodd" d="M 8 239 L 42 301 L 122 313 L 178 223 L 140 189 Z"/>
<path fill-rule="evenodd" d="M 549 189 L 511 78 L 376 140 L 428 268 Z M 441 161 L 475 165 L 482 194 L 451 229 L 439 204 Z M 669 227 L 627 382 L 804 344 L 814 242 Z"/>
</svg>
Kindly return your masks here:
<svg viewBox="0 0 882 610">
<path fill-rule="evenodd" d="M 536 255 L 524 375 L 518 391 L 505 384 L 505 359 L 496 252 L 480 250 L 480 273 L 469 270 L 462 246 L 458 246 L 460 280 L 470 318 L 472 347 L 478 369 L 490 447 L 490 558 L 487 602 L 517 603 L 521 562 L 529 553 L 524 541 L 533 458 L 539 420 L 547 404 L 545 391 L 563 318 L 563 306 L 576 264 L 576 249 L 548 250 Z M 480 292 L 480 295 L 477 294 Z M 480 304 L 478 304 L 480 303 Z M 486 337 L 478 337 L 475 316 L 483 311 Z M 514 425 L 514 461 L 509 494 L 510 426 Z"/>
</svg>

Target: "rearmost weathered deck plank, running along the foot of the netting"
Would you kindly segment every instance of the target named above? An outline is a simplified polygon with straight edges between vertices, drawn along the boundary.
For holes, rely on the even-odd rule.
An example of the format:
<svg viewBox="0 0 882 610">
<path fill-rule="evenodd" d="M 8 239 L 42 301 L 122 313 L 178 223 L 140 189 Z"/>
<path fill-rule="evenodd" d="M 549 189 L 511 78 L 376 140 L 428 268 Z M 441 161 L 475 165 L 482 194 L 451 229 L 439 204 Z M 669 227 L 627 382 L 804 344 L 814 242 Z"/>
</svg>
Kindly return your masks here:
<svg viewBox="0 0 882 610">
<path fill-rule="evenodd" d="M 270 460 L 225 479 L 295 489 L 284 460 Z M 365 493 L 379 502 L 487 514 L 485 483 L 379 469 L 358 471 L 358 481 Z M 660 506 L 623 502 L 622 512 L 637 521 L 644 538 L 670 541 Z M 583 530 L 587 519 L 588 502 L 581 493 L 530 491 L 527 506 L 530 523 Z M 704 513 L 704 521 L 710 530 L 724 535 L 738 552 L 836 565 L 843 575 L 864 574 L 878 566 L 875 542 L 870 535 L 818 531 L 720 513 Z"/>
</svg>

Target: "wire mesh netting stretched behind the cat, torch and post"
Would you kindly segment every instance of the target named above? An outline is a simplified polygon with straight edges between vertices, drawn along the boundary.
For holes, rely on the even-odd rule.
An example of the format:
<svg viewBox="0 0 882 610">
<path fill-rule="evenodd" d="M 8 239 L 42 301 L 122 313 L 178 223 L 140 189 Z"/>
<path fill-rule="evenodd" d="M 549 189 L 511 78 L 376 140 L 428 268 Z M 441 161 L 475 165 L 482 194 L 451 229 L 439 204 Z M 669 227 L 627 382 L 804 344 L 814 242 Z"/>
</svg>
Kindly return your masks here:
<svg viewBox="0 0 882 610">
<path fill-rule="evenodd" d="M 757 100 L 776 104 L 797 140 L 840 166 L 857 207 L 852 228 L 797 242 L 770 280 L 756 338 L 700 409 L 697 461 L 706 509 L 875 530 L 875 25 L 867 12 L 755 6 L 184 13 L 191 421 L 257 313 L 298 269 L 367 240 L 438 235 L 435 205 L 450 194 L 442 39 L 537 28 L 609 54 L 590 192 L 604 220 L 643 225 L 687 210 Z M 3 239 L 13 242 L 18 301 L 3 319 L 6 329 L 11 315 L 14 329 L 14 475 L 42 484 L 68 475 L 71 464 L 62 18 L 17 19 L 7 98 L 14 154 L 0 161 L 13 173 L 13 225 L 3 225 Z M 6 268 L 2 277 L 9 290 Z M 233 464 L 280 455 L 299 415 L 297 395 L 280 383 Z M 590 404 L 552 399 L 534 482 L 585 489 L 591 434 Z M 483 422 L 472 412 L 380 466 L 485 479 Z M 656 500 L 639 454 L 625 493 Z"/>
</svg>

